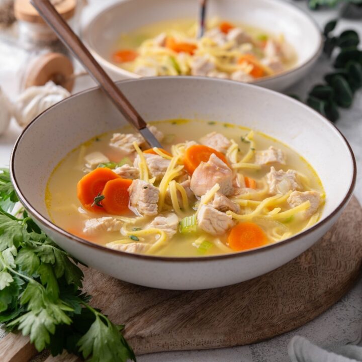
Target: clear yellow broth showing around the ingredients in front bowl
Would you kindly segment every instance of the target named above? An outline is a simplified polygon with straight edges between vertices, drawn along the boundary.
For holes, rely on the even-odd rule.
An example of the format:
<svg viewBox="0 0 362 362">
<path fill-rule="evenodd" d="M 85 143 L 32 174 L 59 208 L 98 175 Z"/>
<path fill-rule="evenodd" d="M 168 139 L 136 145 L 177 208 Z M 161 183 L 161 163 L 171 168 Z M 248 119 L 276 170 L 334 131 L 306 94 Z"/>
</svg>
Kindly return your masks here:
<svg viewBox="0 0 362 362">
<path fill-rule="evenodd" d="M 170 151 L 171 144 L 185 142 L 186 140 L 197 141 L 205 134 L 213 131 L 220 132 L 229 139 L 235 140 L 239 146 L 241 154 L 245 154 L 249 148 L 249 144 L 243 142 L 242 137 L 245 137 L 250 130 L 240 126 L 202 120 L 169 120 L 151 122 L 151 124 L 156 125 L 157 128 L 165 134 L 166 143 L 161 142 L 161 144 L 167 151 Z M 191 129 L 192 132 L 190 132 Z M 130 126 L 124 127 L 118 131 L 123 133 L 132 133 Z M 101 245 L 106 245 L 109 242 L 120 239 L 121 234 L 117 231 L 104 232 L 97 236 L 85 237 L 82 235 L 82 228 L 85 220 L 109 215 L 90 213 L 83 210 L 77 199 L 76 186 L 79 179 L 84 175 L 83 169 L 85 154 L 100 151 L 107 155 L 110 160 L 116 162 L 120 161 L 122 156 L 109 145 L 112 134 L 113 132 L 106 133 L 83 143 L 61 160 L 49 178 L 45 197 L 49 216 L 56 225 L 75 235 L 79 235 L 89 241 Z M 192 138 L 190 137 L 191 134 Z M 275 146 L 284 151 L 287 156 L 287 164 L 281 165 L 279 169 L 283 169 L 285 171 L 288 169 L 297 170 L 305 176 L 305 179 L 308 180 L 307 183 L 310 189 L 316 190 L 323 195 L 323 187 L 316 172 L 297 152 L 282 142 L 268 137 L 261 132 L 255 132 L 254 141 L 256 151 L 266 149 L 269 146 Z M 256 180 L 260 180 L 268 171 L 269 167 L 259 170 L 243 169 L 242 174 Z M 253 200 L 262 200 L 265 197 L 268 196 L 256 196 Z M 289 208 L 286 201 L 283 204 L 278 205 L 278 207 L 281 207 L 282 210 L 287 210 Z M 247 206 L 244 210 L 247 211 Z M 187 215 L 192 215 L 194 213 L 195 210 L 191 209 Z M 130 215 L 132 214 L 130 213 Z M 134 226 L 142 229 L 152 219 L 152 217 L 148 217 L 141 223 L 136 223 Z M 268 242 L 275 242 L 275 240 L 269 237 L 270 229 L 276 226 L 274 221 L 255 218 L 253 222 L 257 223 L 265 231 L 269 238 Z M 287 218 L 285 220 L 280 220 L 278 225 L 294 235 L 301 232 L 308 222 L 309 219 L 303 220 L 302 218 Z M 194 244 L 195 240 L 200 236 L 204 236 L 205 240 L 211 241 L 213 246 L 206 251 L 204 250 L 203 252 L 200 252 Z M 177 233 L 166 243 L 164 247 L 155 251 L 154 254 L 163 256 L 204 256 L 223 254 L 227 252 L 232 252 L 232 250 L 227 246 L 227 234 L 216 238 L 212 235 L 206 234 L 205 232 L 197 232 L 190 234 Z"/>
</svg>

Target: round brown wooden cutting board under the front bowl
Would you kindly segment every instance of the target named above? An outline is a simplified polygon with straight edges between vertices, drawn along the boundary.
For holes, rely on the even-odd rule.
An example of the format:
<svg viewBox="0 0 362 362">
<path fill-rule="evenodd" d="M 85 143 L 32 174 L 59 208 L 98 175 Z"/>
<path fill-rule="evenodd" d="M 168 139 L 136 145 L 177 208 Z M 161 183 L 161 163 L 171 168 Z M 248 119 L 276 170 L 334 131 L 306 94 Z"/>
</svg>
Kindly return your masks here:
<svg viewBox="0 0 362 362">
<path fill-rule="evenodd" d="M 271 338 L 309 322 L 351 288 L 361 264 L 362 209 L 352 198 L 313 247 L 251 281 L 202 291 L 165 291 L 85 268 L 84 290 L 113 322 L 126 324 L 125 337 L 138 355 L 221 348 Z M 28 359 L 12 359 L 25 348 Z M 31 354 L 25 338 L 10 334 L 0 342 L 2 362 L 27 361 Z M 46 361 L 76 360 L 63 355 Z"/>
</svg>

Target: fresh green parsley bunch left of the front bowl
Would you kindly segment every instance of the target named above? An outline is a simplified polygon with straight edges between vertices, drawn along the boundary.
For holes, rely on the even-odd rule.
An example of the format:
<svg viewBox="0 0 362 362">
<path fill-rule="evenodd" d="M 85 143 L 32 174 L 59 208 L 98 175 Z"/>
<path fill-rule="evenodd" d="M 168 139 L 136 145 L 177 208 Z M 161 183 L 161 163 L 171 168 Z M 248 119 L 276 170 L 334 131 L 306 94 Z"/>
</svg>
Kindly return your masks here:
<svg viewBox="0 0 362 362">
<path fill-rule="evenodd" d="M 63 349 L 91 362 L 136 361 L 113 324 L 82 294 L 77 260 L 19 210 L 8 169 L 0 169 L 0 323 L 29 335 L 38 351 Z"/>
</svg>

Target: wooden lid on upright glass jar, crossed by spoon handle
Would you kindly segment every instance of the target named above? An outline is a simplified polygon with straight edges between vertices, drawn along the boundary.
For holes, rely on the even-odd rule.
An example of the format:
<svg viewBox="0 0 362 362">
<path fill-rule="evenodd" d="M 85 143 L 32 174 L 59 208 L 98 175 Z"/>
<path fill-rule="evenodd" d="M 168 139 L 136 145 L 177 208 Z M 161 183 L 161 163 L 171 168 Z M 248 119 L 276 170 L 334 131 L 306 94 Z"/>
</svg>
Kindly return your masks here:
<svg viewBox="0 0 362 362">
<path fill-rule="evenodd" d="M 57 12 L 65 19 L 70 19 L 75 12 L 75 0 L 52 0 Z M 30 4 L 29 0 L 15 0 L 14 13 L 18 20 L 29 23 L 45 24 L 37 10 Z"/>
</svg>

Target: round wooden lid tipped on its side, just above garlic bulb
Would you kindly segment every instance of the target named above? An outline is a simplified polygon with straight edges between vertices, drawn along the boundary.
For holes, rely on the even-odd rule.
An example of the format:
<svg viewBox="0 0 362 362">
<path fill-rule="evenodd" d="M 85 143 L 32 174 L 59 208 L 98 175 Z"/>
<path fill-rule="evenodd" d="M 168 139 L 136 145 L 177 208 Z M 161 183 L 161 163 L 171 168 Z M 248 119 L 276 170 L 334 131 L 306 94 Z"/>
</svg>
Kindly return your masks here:
<svg viewBox="0 0 362 362">
<path fill-rule="evenodd" d="M 49 80 L 71 92 L 74 85 L 73 64 L 61 53 L 47 53 L 36 59 L 25 77 L 25 88 L 44 85 Z"/>
</svg>

